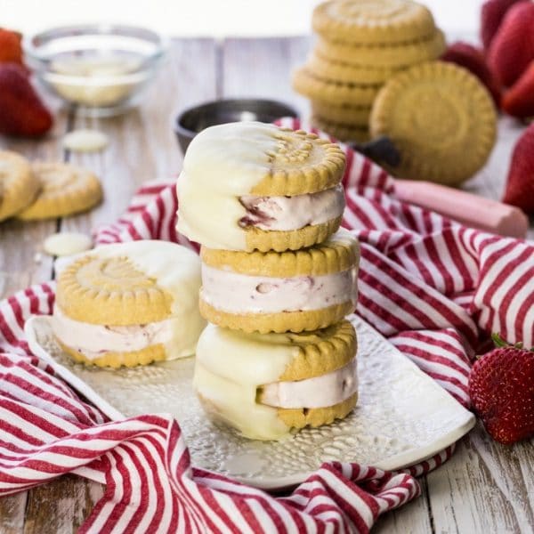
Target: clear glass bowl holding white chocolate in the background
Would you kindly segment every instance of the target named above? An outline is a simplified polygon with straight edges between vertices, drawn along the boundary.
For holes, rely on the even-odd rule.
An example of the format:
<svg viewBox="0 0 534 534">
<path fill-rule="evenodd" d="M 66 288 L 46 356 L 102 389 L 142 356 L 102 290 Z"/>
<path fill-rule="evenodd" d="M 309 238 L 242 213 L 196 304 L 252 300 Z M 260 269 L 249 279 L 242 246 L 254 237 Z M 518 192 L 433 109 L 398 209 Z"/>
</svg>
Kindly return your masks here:
<svg viewBox="0 0 534 534">
<path fill-rule="evenodd" d="M 25 53 L 37 79 L 85 115 L 130 109 L 154 79 L 165 42 L 146 28 L 83 24 L 28 37 Z"/>
</svg>

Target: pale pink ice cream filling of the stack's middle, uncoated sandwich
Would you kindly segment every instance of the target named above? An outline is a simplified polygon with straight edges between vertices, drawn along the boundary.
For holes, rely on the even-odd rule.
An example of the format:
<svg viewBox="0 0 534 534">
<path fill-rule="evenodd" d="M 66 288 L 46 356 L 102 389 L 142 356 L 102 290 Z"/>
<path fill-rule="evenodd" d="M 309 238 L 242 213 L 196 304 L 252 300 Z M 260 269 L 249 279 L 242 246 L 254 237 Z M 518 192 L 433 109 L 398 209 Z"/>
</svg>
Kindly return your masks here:
<svg viewBox="0 0 534 534">
<path fill-rule="evenodd" d="M 356 306 L 357 269 L 318 276 L 271 278 L 202 264 L 202 299 L 223 312 L 279 313 L 320 310 L 348 300 Z"/>
</svg>

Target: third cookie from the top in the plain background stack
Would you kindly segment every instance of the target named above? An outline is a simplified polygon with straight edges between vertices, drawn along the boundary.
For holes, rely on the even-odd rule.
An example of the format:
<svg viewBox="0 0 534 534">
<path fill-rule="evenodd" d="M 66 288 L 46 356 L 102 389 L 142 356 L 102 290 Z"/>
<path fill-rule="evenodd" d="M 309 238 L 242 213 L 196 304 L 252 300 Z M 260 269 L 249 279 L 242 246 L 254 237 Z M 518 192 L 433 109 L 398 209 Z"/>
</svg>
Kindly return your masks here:
<svg viewBox="0 0 534 534">
<path fill-rule="evenodd" d="M 312 53 L 306 63 L 306 69 L 316 77 L 329 82 L 341 82 L 356 85 L 381 85 L 400 69 L 374 68 L 351 65 L 340 61 L 323 58 L 317 51 Z"/>
</svg>

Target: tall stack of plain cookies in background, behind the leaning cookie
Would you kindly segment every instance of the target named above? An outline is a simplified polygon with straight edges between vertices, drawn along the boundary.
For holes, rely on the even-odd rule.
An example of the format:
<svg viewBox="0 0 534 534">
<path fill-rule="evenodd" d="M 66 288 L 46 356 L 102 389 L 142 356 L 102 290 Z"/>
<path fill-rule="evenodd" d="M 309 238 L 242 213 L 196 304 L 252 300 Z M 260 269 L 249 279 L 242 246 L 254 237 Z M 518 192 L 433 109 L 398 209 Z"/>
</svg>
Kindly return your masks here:
<svg viewBox="0 0 534 534">
<path fill-rule="evenodd" d="M 368 141 L 382 85 L 446 46 L 432 13 L 411 0 L 331 0 L 317 6 L 312 25 L 319 38 L 293 85 L 311 99 L 312 123 L 342 141 Z"/>
</svg>

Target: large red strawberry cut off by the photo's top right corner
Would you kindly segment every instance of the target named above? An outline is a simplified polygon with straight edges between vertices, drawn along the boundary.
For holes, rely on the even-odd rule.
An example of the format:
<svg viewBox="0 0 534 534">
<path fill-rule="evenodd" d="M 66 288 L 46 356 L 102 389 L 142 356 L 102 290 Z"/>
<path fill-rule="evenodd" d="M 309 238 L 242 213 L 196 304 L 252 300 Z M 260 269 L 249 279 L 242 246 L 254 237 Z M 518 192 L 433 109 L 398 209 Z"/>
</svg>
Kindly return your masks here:
<svg viewBox="0 0 534 534">
<path fill-rule="evenodd" d="M 514 85 L 534 60 L 534 2 L 513 5 L 493 37 L 488 64 L 501 85 Z"/>
</svg>

